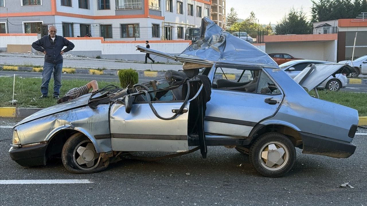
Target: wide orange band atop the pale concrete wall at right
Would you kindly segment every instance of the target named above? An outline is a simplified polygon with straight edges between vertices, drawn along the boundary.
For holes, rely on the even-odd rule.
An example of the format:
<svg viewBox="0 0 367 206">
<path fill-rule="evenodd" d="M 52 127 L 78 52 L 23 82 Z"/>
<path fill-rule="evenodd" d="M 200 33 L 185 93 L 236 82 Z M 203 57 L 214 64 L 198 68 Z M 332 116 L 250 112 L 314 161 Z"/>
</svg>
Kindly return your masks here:
<svg viewBox="0 0 367 206">
<path fill-rule="evenodd" d="M 337 40 L 338 34 L 294 34 L 294 35 L 269 35 L 264 36 L 264 42 L 286 41 L 328 41 Z"/>
</svg>

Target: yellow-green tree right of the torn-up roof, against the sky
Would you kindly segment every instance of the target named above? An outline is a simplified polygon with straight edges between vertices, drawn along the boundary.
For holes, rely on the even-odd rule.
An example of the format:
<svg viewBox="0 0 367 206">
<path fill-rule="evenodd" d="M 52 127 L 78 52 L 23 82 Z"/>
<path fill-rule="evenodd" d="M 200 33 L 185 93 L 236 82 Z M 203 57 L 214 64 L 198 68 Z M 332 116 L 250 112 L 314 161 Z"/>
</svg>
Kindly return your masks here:
<svg viewBox="0 0 367 206">
<path fill-rule="evenodd" d="M 243 22 L 236 22 L 232 25 L 232 32 L 247 32 L 251 37 L 256 37 L 258 34 L 258 29 L 261 26 L 257 23 L 257 18 L 255 13 L 251 11 L 250 16 L 246 18 Z"/>
</svg>

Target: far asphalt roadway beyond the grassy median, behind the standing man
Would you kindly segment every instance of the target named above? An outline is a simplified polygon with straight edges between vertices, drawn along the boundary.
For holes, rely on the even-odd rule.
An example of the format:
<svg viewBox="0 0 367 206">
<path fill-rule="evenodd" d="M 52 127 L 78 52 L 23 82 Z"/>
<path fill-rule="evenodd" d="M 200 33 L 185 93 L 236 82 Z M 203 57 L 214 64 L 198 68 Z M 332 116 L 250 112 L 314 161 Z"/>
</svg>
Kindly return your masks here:
<svg viewBox="0 0 367 206">
<path fill-rule="evenodd" d="M 38 77 L 41 78 L 42 74 L 39 72 L 25 72 L 25 71 L 0 71 L 0 76 L 8 76 L 16 74 L 21 77 Z M 62 74 L 63 79 L 84 79 L 84 80 L 97 80 L 97 81 L 119 81 L 117 76 L 109 75 L 90 75 L 90 74 Z M 139 83 L 143 83 L 150 80 L 155 80 L 156 77 L 139 77 Z M 344 92 L 364 92 L 367 93 L 367 84 L 348 84 L 346 88 L 342 88 L 340 91 Z"/>
</svg>

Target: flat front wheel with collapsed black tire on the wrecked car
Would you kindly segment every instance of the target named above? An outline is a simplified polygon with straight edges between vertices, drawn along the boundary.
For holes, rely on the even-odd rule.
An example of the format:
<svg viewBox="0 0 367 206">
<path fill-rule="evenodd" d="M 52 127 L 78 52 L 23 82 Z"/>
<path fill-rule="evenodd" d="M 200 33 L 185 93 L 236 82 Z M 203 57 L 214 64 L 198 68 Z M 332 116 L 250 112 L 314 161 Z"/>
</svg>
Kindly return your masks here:
<svg viewBox="0 0 367 206">
<path fill-rule="evenodd" d="M 82 133 L 76 133 L 66 140 L 62 148 L 61 159 L 65 168 L 76 174 L 101 172 L 110 163 L 109 158 L 101 158 L 95 152 L 92 141 Z"/>
</svg>

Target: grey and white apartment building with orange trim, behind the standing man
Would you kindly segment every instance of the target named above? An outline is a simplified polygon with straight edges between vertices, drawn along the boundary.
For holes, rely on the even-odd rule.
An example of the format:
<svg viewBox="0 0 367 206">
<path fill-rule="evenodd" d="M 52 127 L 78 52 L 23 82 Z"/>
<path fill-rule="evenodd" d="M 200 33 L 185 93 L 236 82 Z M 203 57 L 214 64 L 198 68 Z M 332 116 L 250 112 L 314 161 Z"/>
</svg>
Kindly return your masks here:
<svg viewBox="0 0 367 206">
<path fill-rule="evenodd" d="M 0 33 L 39 33 L 105 41 L 180 40 L 210 16 L 210 0 L 0 0 Z"/>
</svg>

